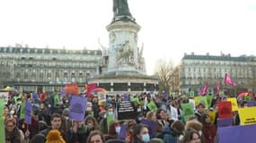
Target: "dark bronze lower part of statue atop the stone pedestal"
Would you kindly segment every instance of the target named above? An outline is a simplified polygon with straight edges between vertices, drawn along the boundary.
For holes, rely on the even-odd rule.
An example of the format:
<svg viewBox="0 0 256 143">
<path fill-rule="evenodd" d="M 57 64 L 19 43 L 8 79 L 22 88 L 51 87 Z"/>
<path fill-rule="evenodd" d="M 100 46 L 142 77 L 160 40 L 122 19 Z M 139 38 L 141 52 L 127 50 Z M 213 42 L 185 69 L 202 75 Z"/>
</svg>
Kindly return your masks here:
<svg viewBox="0 0 256 143">
<path fill-rule="evenodd" d="M 131 16 L 128 8 L 128 0 L 113 0 L 114 17 Z"/>
</svg>

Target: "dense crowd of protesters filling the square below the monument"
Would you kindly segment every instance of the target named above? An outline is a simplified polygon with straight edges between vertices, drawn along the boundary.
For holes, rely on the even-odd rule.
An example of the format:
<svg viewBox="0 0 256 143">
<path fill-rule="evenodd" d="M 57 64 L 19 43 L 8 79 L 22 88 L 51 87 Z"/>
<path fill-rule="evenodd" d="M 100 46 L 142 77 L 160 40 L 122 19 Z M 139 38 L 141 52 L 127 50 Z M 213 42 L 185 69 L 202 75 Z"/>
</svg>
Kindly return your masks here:
<svg viewBox="0 0 256 143">
<path fill-rule="evenodd" d="M 10 96 L 4 107 L 5 143 L 215 143 L 217 139 L 217 105 L 222 97 L 213 96 L 209 108 L 203 103 L 195 107 L 194 116 L 184 120 L 181 104 L 188 103 L 189 96 L 137 95 L 139 101 L 153 101 L 157 110 L 151 111 L 145 104 L 130 101 L 137 118 L 118 120 L 117 104 L 123 96 L 108 96 L 106 102 L 99 103 L 98 97 L 88 97 L 84 121 L 69 118 L 70 96 L 59 96 L 59 104 L 54 102 L 54 95 L 45 99 L 31 99 L 31 95 Z M 31 124 L 20 119 L 21 105 L 24 101 L 32 103 Z M 243 106 L 243 102 L 239 104 Z M 178 113 L 178 120 L 173 120 L 171 106 Z M 216 111 L 215 122 L 211 122 L 208 111 Z M 114 114 L 114 120 L 107 122 L 108 114 Z M 146 120 L 155 122 L 156 127 L 146 125 Z M 234 125 L 240 120 L 234 112 Z M 125 127 L 125 133 L 122 128 Z M 122 133 L 121 133 L 122 131 Z"/>
</svg>

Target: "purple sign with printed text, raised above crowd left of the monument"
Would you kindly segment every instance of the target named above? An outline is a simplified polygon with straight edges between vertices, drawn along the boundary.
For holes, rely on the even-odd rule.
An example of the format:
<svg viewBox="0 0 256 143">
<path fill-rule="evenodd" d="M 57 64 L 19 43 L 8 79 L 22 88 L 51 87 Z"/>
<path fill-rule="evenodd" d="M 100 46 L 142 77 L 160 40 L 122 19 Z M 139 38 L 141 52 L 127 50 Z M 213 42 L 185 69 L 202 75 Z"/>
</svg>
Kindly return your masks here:
<svg viewBox="0 0 256 143">
<path fill-rule="evenodd" d="M 77 122 L 84 121 L 84 114 L 87 106 L 87 97 L 71 97 L 69 107 L 69 118 Z"/>
</svg>

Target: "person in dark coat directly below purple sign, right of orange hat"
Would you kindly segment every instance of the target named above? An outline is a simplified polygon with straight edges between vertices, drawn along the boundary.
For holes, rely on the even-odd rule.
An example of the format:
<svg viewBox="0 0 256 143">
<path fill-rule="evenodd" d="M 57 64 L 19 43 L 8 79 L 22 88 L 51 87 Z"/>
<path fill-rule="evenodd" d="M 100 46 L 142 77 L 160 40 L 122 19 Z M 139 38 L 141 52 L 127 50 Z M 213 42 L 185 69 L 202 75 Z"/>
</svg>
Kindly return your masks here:
<svg viewBox="0 0 256 143">
<path fill-rule="evenodd" d="M 73 127 L 67 132 L 67 143 L 86 143 L 88 136 L 89 133 L 84 125 L 84 122 L 74 122 Z"/>
</svg>

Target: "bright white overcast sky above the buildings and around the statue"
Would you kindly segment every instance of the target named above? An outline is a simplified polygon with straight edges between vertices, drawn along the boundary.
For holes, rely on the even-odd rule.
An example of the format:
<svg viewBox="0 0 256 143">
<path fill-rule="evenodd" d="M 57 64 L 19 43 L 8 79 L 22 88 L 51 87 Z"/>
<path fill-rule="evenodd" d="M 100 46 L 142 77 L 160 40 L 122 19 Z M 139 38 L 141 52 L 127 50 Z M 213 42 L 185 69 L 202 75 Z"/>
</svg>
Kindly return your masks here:
<svg viewBox="0 0 256 143">
<path fill-rule="evenodd" d="M 128 0 L 142 27 L 146 69 L 159 58 L 256 55 L 256 0 Z M 88 49 L 108 46 L 112 0 L 1 0 L 0 46 Z"/>
</svg>

